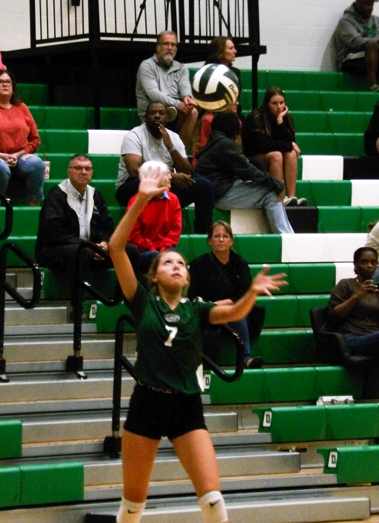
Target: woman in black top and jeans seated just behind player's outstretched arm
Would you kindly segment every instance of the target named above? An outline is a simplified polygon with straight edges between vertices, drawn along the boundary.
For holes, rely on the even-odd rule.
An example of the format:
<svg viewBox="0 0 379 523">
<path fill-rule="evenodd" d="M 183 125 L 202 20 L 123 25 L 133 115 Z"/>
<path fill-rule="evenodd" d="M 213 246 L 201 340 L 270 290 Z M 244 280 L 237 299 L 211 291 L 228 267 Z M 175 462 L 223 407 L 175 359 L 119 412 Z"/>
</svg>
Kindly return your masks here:
<svg viewBox="0 0 379 523">
<path fill-rule="evenodd" d="M 231 251 L 233 232 L 231 226 L 218 220 L 212 223 L 208 233 L 208 243 L 212 252 L 203 254 L 191 261 L 190 287 L 188 298 L 200 296 L 205 301 L 217 305 L 232 305 L 239 300 L 251 284 L 247 261 Z M 245 368 L 257 369 L 262 366 L 260 356 L 251 358 L 250 338 L 247 320 L 229 324 L 239 334 L 245 348 Z"/>
</svg>

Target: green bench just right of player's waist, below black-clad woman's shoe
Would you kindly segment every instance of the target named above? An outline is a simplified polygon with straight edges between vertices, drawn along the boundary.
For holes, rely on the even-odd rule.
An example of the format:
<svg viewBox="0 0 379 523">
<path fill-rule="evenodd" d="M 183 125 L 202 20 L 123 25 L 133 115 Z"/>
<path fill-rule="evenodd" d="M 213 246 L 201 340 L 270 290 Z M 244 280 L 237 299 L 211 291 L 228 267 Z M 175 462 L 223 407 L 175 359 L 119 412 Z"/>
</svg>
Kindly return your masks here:
<svg viewBox="0 0 379 523">
<path fill-rule="evenodd" d="M 316 401 L 319 396 L 347 394 L 362 397 L 362 380 L 344 367 L 248 370 L 227 387 L 211 373 L 212 404 Z"/>
</svg>

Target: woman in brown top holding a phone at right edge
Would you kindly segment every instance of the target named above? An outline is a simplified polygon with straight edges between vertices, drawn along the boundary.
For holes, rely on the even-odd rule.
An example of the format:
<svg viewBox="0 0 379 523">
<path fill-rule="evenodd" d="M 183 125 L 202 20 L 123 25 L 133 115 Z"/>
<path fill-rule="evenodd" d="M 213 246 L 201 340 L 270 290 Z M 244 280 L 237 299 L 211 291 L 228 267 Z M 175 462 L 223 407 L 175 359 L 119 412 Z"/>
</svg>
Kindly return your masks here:
<svg viewBox="0 0 379 523">
<path fill-rule="evenodd" d="M 344 278 L 331 291 L 330 320 L 346 340 L 352 354 L 379 355 L 379 290 L 372 278 L 377 252 L 360 247 L 354 253 L 356 278 Z"/>
</svg>

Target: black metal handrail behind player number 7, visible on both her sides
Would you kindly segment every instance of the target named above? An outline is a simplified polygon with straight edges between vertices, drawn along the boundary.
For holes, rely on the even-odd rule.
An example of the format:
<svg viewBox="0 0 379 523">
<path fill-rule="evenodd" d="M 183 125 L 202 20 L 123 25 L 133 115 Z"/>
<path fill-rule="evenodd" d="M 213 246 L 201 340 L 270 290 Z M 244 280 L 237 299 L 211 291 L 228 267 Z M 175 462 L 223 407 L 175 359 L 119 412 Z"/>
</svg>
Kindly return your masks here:
<svg viewBox="0 0 379 523">
<path fill-rule="evenodd" d="M 132 378 L 134 378 L 134 367 L 126 356 L 123 355 L 123 338 L 125 324 L 129 323 L 134 328 L 134 322 L 131 316 L 124 314 L 119 317 L 116 326 L 116 337 L 114 340 L 114 370 L 113 370 L 113 410 L 112 410 L 112 436 L 107 436 L 104 440 L 104 453 L 110 458 L 120 456 L 121 438 L 120 438 L 120 415 L 121 415 L 121 386 L 122 386 L 122 369 L 124 368 Z M 230 336 L 236 347 L 236 368 L 233 374 L 227 374 L 208 356 L 203 354 L 203 361 L 208 363 L 208 370 L 212 370 L 216 376 L 222 380 L 232 383 L 237 381 L 244 372 L 245 351 L 244 345 L 238 334 L 228 325 L 220 325 L 227 336 Z"/>
</svg>

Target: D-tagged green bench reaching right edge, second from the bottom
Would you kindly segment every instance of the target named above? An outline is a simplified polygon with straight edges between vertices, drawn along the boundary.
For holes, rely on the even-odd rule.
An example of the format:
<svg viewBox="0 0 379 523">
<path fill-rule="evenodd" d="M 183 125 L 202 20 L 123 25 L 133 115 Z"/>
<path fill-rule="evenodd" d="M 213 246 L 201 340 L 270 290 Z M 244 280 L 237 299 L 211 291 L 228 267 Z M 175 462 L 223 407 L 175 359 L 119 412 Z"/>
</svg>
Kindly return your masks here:
<svg viewBox="0 0 379 523">
<path fill-rule="evenodd" d="M 379 437 L 379 404 L 252 408 L 274 443 Z"/>
</svg>

